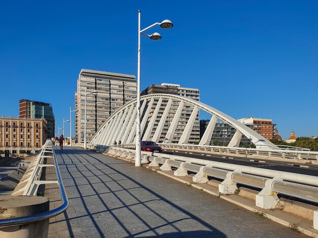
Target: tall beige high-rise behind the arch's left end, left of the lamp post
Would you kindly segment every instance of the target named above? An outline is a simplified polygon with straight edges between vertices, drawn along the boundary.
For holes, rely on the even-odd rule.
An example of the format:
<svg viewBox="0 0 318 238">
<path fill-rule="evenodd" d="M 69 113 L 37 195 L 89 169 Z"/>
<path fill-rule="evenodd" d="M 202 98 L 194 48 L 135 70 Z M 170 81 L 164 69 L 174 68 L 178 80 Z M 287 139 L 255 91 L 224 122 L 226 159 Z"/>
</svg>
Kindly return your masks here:
<svg viewBox="0 0 318 238">
<path fill-rule="evenodd" d="M 93 137 L 106 119 L 125 103 L 137 98 L 134 75 L 82 69 L 75 94 L 75 132 L 78 143 L 84 142 L 86 93 L 97 90 L 98 96 L 86 96 L 86 139 Z"/>
</svg>

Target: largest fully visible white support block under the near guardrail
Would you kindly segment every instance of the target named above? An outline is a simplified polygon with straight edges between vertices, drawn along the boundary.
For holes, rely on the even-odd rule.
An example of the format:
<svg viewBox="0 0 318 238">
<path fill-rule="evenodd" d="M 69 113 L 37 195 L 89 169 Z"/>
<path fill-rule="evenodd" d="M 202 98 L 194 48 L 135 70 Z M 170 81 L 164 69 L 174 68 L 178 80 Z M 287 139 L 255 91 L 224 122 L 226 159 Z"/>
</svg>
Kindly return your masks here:
<svg viewBox="0 0 318 238">
<path fill-rule="evenodd" d="M 256 206 L 263 209 L 273 209 L 277 206 L 279 199 L 276 192 L 271 188 L 275 180 L 282 180 L 280 175 L 276 175 L 273 179 L 267 180 L 265 187 L 256 195 Z"/>
</svg>

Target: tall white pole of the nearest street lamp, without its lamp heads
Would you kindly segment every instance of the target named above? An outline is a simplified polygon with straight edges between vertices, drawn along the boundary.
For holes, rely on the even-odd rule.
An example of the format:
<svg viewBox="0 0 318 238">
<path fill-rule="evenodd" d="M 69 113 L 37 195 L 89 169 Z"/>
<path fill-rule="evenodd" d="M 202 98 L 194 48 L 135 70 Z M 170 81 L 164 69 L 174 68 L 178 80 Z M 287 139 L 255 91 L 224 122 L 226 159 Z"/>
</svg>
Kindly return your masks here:
<svg viewBox="0 0 318 238">
<path fill-rule="evenodd" d="M 140 144 L 140 10 L 138 11 L 138 66 L 137 66 L 137 129 L 136 129 L 136 154 L 135 166 L 141 166 L 141 144 Z"/>
</svg>

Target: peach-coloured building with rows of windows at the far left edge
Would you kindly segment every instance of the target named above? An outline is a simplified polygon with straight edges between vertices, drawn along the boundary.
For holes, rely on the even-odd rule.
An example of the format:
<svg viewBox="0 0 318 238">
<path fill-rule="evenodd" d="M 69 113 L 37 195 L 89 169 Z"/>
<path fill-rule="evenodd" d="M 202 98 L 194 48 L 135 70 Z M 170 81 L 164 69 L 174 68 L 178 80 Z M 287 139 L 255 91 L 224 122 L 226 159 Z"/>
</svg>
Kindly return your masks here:
<svg viewBox="0 0 318 238">
<path fill-rule="evenodd" d="M 44 118 L 0 117 L 0 149 L 5 155 L 36 153 L 46 142 L 47 122 Z"/>
</svg>

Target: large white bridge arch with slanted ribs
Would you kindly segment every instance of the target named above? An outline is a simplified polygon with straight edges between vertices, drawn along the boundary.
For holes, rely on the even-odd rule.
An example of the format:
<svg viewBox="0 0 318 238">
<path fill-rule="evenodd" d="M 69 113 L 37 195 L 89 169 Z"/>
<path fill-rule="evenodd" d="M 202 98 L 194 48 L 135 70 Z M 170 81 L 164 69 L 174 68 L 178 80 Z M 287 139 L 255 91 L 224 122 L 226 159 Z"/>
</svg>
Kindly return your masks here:
<svg viewBox="0 0 318 238">
<path fill-rule="evenodd" d="M 181 124 L 182 134 L 177 137 L 177 144 L 188 144 L 190 135 L 194 129 L 198 111 L 199 109 L 202 109 L 211 114 L 211 120 L 199 145 L 210 145 L 215 124 L 217 119 L 220 119 L 236 130 L 228 147 L 238 147 L 241 138 L 244 135 L 255 144 L 257 148 L 267 147 L 278 149 L 273 143 L 231 116 L 190 98 L 170 94 L 150 94 L 141 97 L 141 105 L 142 140 L 171 143 L 172 141 L 175 141 L 177 126 Z M 185 120 L 185 118 L 181 116 L 185 111 L 190 113 L 188 120 Z M 91 145 L 111 145 L 114 141 L 118 142 L 119 140 L 121 140 L 122 144 L 135 142 L 137 126 L 136 114 L 137 99 L 126 103 L 112 114 L 89 143 Z M 155 130 L 154 126 L 156 126 Z"/>
</svg>

